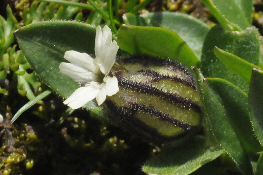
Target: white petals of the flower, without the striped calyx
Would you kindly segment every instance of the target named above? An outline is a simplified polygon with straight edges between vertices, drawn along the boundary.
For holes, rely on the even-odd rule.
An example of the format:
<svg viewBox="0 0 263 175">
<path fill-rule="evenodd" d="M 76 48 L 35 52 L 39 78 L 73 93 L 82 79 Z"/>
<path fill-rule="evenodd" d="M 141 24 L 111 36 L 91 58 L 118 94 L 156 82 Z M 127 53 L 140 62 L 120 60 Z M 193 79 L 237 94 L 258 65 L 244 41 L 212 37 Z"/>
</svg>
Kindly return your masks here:
<svg viewBox="0 0 263 175">
<path fill-rule="evenodd" d="M 60 72 L 84 85 L 73 92 L 63 103 L 72 109 L 82 107 L 96 97 L 100 106 L 106 96 L 112 96 L 119 91 L 115 76 L 109 75 L 119 49 L 117 42 L 112 41 L 111 29 L 108 26 L 98 26 L 95 38 L 95 59 L 86 53 L 74 50 L 65 52 L 64 58 L 70 63 L 60 63 Z M 103 78 L 104 77 L 104 78 Z"/>
</svg>

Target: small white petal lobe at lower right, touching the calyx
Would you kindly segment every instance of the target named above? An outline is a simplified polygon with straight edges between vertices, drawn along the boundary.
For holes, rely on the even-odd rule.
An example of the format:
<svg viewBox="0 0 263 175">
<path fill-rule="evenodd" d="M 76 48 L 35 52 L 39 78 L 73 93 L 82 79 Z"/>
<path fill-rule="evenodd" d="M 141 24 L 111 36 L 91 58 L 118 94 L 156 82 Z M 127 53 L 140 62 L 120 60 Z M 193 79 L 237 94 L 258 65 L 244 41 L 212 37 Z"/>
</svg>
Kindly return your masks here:
<svg viewBox="0 0 263 175">
<path fill-rule="evenodd" d="M 105 90 L 108 96 L 112 96 L 119 91 L 118 80 L 115 76 L 106 76 L 103 81 L 105 82 Z"/>
</svg>

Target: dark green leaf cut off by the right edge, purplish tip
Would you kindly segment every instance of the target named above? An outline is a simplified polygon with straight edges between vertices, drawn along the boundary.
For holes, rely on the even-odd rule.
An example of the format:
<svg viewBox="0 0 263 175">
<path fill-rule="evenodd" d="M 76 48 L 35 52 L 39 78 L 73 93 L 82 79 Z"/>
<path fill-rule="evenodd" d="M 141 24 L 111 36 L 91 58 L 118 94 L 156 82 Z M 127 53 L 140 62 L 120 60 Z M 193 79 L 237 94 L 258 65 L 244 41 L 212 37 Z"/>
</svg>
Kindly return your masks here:
<svg viewBox="0 0 263 175">
<path fill-rule="evenodd" d="M 251 122 L 257 138 L 263 145 L 263 71 L 253 69 L 249 87 Z"/>
</svg>

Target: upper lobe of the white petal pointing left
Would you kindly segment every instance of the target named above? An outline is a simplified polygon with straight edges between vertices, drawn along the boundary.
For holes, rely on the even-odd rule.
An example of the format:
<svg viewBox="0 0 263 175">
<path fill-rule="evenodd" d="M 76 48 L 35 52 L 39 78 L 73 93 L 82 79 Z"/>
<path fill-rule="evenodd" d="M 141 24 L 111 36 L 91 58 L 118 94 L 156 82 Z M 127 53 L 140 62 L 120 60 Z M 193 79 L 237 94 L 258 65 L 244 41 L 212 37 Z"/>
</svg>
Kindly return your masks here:
<svg viewBox="0 0 263 175">
<path fill-rule="evenodd" d="M 94 73 L 99 71 L 98 66 L 94 64 L 94 59 L 86 53 L 79 53 L 75 50 L 69 50 L 65 52 L 64 58 L 72 64 L 87 69 L 88 71 Z"/>
</svg>

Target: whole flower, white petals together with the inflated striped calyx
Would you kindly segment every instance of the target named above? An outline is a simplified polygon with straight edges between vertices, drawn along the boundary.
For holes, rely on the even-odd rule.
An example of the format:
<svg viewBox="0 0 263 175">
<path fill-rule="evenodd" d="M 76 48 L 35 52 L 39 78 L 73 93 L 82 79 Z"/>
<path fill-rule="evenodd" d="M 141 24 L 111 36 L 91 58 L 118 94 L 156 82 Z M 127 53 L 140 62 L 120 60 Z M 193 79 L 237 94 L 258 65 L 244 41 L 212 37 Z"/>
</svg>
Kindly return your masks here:
<svg viewBox="0 0 263 175">
<path fill-rule="evenodd" d="M 194 75 L 177 62 L 150 55 L 125 55 L 114 65 L 119 47 L 111 35 L 108 26 L 103 32 L 97 27 L 95 59 L 65 53 L 70 63 L 61 63 L 60 71 L 81 87 L 64 104 L 77 109 L 96 98 L 113 123 L 156 143 L 197 131 L 201 109 Z"/>
</svg>

